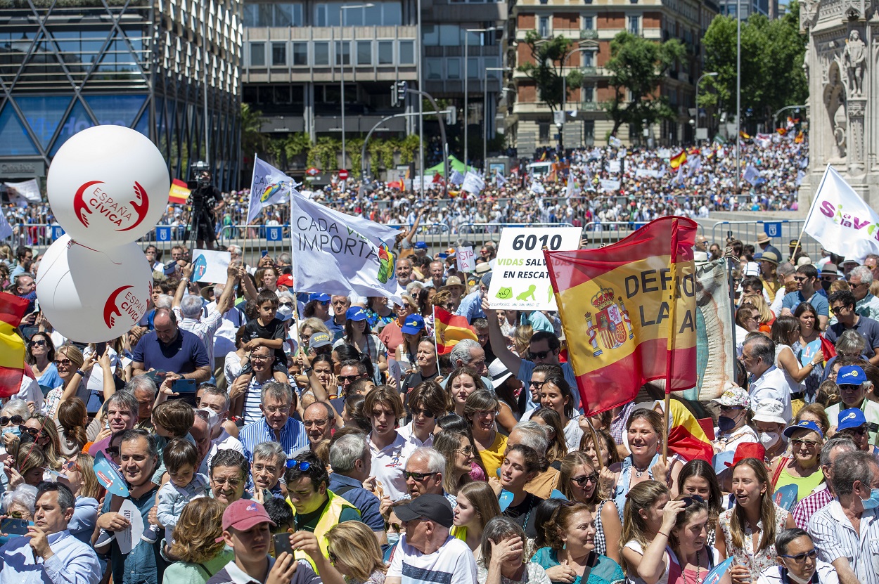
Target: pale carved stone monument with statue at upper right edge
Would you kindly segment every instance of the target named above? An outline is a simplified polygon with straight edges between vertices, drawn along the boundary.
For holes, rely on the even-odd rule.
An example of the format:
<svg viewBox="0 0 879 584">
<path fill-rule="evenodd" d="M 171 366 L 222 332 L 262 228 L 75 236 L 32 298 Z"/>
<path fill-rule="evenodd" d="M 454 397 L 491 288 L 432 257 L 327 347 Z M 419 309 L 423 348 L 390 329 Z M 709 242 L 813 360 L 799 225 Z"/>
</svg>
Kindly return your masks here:
<svg viewBox="0 0 879 584">
<path fill-rule="evenodd" d="M 810 106 L 800 208 L 809 208 L 828 163 L 879 207 L 879 0 L 803 0 L 800 26 L 809 35 Z"/>
</svg>

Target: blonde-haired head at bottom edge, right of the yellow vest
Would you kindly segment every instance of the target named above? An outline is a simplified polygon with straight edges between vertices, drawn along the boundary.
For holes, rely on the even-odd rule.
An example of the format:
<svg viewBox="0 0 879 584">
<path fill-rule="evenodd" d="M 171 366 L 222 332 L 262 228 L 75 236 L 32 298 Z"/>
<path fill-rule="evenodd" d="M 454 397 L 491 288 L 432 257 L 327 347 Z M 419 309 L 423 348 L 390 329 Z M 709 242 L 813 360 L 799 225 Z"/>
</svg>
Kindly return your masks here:
<svg viewBox="0 0 879 584">
<path fill-rule="evenodd" d="M 366 523 L 346 521 L 327 531 L 327 557 L 348 584 L 382 584 L 388 566 Z"/>
</svg>

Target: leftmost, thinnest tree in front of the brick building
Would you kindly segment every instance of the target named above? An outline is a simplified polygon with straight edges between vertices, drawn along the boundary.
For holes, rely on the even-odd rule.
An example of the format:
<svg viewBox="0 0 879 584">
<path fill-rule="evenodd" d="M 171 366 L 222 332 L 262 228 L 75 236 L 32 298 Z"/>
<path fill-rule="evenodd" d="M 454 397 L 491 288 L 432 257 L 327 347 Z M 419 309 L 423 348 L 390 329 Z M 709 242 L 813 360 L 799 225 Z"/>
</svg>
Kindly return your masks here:
<svg viewBox="0 0 879 584">
<path fill-rule="evenodd" d="M 528 31 L 525 35 L 525 43 L 531 49 L 532 61 L 522 63 L 518 70 L 534 81 L 541 101 L 550 111 L 561 110 L 563 101 L 567 101 L 571 90 L 583 83 L 583 75 L 579 71 L 570 71 L 567 75 L 568 95 L 563 98 L 562 63 L 570 66 L 570 62 L 565 62 L 565 58 L 570 54 L 574 41 L 565 39 L 562 35 L 553 39 L 543 39 L 537 31 Z"/>
</svg>

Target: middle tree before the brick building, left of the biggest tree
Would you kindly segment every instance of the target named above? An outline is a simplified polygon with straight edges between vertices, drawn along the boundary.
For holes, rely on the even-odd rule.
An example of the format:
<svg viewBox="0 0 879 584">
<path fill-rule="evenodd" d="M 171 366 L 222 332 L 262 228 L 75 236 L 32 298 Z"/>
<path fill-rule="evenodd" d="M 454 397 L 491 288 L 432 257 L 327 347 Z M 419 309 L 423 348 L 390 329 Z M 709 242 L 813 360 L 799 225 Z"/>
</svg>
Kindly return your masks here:
<svg viewBox="0 0 879 584">
<path fill-rule="evenodd" d="M 617 33 L 610 42 L 610 59 L 605 66 L 614 89 L 614 97 L 604 105 L 614 119 L 613 133 L 623 124 L 640 132 L 644 119 L 654 124 L 677 116 L 668 99 L 658 93 L 668 70 L 685 59 L 686 47 L 677 39 L 657 43 L 631 32 Z"/>
</svg>

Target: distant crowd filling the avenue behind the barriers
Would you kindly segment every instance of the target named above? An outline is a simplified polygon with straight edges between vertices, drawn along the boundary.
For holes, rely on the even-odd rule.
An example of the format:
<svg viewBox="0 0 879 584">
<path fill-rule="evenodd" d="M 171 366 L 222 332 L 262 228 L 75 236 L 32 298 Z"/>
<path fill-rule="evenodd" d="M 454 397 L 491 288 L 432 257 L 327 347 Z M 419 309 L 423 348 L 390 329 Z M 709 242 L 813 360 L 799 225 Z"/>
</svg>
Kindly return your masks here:
<svg viewBox="0 0 879 584">
<path fill-rule="evenodd" d="M 801 173 L 808 164 L 808 140 L 798 143 L 792 140 L 794 133 L 788 137 L 779 136 L 762 146 L 751 139 L 740 143 L 746 178 L 741 188 L 736 184 L 734 146 L 711 144 L 691 148 L 679 171 L 670 167 L 670 159 L 682 148 L 626 151 L 608 146 L 574 150 L 568 157 L 549 151 L 541 154 L 549 162 L 543 168 L 519 161 L 505 175 L 490 172 L 483 177 L 484 190 L 476 194 L 462 191 L 459 179 L 458 184 L 449 184 L 451 197 L 444 196 L 439 174 L 430 177 L 433 182 L 424 193 L 413 190 L 412 181 L 374 182 L 360 192 L 358 184 L 352 180 L 345 184 L 335 174 L 323 189 L 312 190 L 307 185 L 301 189 L 323 205 L 379 223 L 411 226 L 420 212 L 425 233 L 463 234 L 482 228 L 474 226 L 492 223 L 570 223 L 581 227 L 614 221 L 646 222 L 666 215 L 708 217 L 713 211 L 795 211 Z M 755 169 L 756 176 L 745 173 L 749 167 Z M 602 182 L 614 180 L 620 184 L 607 187 Z M 418 181 L 414 182 L 417 186 Z M 220 239 L 243 236 L 241 226 L 246 223 L 250 198 L 249 188 L 222 193 L 222 210 L 214 217 L 214 231 Z M 10 205 L 4 213 L 17 227 L 17 244 L 51 242 L 51 229 L 43 227 L 54 224 L 47 204 Z M 192 224 L 190 213 L 189 205 L 169 205 L 157 225 L 171 227 L 171 239 L 184 239 Z M 248 234 L 264 237 L 261 227 L 287 223 L 288 205 L 272 205 L 251 222 L 254 227 Z"/>
</svg>

